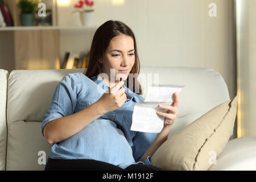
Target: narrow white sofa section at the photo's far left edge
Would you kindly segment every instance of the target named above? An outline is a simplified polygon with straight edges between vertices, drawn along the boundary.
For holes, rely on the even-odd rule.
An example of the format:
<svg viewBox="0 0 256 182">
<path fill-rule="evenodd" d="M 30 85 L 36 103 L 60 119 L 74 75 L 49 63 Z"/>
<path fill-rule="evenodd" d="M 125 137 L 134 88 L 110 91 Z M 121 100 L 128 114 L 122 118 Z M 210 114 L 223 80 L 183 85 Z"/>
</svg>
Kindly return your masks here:
<svg viewBox="0 0 256 182">
<path fill-rule="evenodd" d="M 7 94 L 7 79 L 9 73 L 0 69 L 0 171 L 5 170 L 6 158 L 6 94 Z"/>
</svg>

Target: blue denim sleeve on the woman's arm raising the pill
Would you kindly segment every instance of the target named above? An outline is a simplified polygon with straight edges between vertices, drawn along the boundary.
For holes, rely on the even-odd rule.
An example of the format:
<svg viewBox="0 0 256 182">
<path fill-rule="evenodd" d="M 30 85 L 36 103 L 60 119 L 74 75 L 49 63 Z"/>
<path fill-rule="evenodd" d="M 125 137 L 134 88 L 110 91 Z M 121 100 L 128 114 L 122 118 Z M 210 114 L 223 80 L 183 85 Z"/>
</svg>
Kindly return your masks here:
<svg viewBox="0 0 256 182">
<path fill-rule="evenodd" d="M 82 86 L 81 80 L 77 76 L 79 75 L 69 74 L 62 78 L 56 86 L 49 109 L 42 119 L 41 130 L 43 136 L 43 129 L 47 123 L 74 113 L 77 104 L 77 93 L 80 92 Z"/>
</svg>

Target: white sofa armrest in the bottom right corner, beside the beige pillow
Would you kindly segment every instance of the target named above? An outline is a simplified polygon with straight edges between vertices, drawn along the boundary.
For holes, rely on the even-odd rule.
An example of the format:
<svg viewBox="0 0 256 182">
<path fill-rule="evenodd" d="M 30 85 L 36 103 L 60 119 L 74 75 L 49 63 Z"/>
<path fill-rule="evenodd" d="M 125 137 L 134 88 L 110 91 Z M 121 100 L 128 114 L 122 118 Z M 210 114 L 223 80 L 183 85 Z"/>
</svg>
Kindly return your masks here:
<svg viewBox="0 0 256 182">
<path fill-rule="evenodd" d="M 209 171 L 256 170 L 256 136 L 229 140 Z"/>
</svg>

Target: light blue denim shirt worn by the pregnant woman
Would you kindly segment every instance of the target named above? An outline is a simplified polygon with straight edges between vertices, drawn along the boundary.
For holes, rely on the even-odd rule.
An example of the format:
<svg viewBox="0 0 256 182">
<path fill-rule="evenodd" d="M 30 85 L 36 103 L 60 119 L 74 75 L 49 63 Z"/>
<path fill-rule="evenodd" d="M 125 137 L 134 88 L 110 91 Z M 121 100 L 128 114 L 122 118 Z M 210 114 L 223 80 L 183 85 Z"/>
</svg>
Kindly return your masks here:
<svg viewBox="0 0 256 182">
<path fill-rule="evenodd" d="M 85 109 L 98 101 L 110 87 L 100 75 L 90 80 L 83 73 L 70 73 L 56 86 L 51 104 L 43 117 L 44 126 L 53 119 L 65 117 Z M 125 84 L 127 100 L 114 111 L 101 115 L 71 137 L 54 143 L 49 153 L 52 159 L 94 159 L 126 168 L 131 164 L 150 164 L 150 156 L 142 162 L 142 155 L 157 133 L 131 131 L 134 106 L 144 98 L 132 92 Z M 72 122 L 72 121 L 70 121 Z"/>
</svg>

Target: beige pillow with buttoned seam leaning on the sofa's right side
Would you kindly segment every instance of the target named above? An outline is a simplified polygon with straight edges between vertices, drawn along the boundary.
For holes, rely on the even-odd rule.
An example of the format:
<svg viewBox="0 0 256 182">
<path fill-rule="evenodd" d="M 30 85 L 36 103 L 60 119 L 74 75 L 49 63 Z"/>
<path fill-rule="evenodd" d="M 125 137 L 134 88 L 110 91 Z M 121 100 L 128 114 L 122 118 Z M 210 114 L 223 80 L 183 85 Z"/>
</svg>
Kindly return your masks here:
<svg viewBox="0 0 256 182">
<path fill-rule="evenodd" d="M 237 98 L 224 102 L 168 138 L 152 156 L 166 170 L 208 170 L 226 146 L 237 114 Z"/>
</svg>

